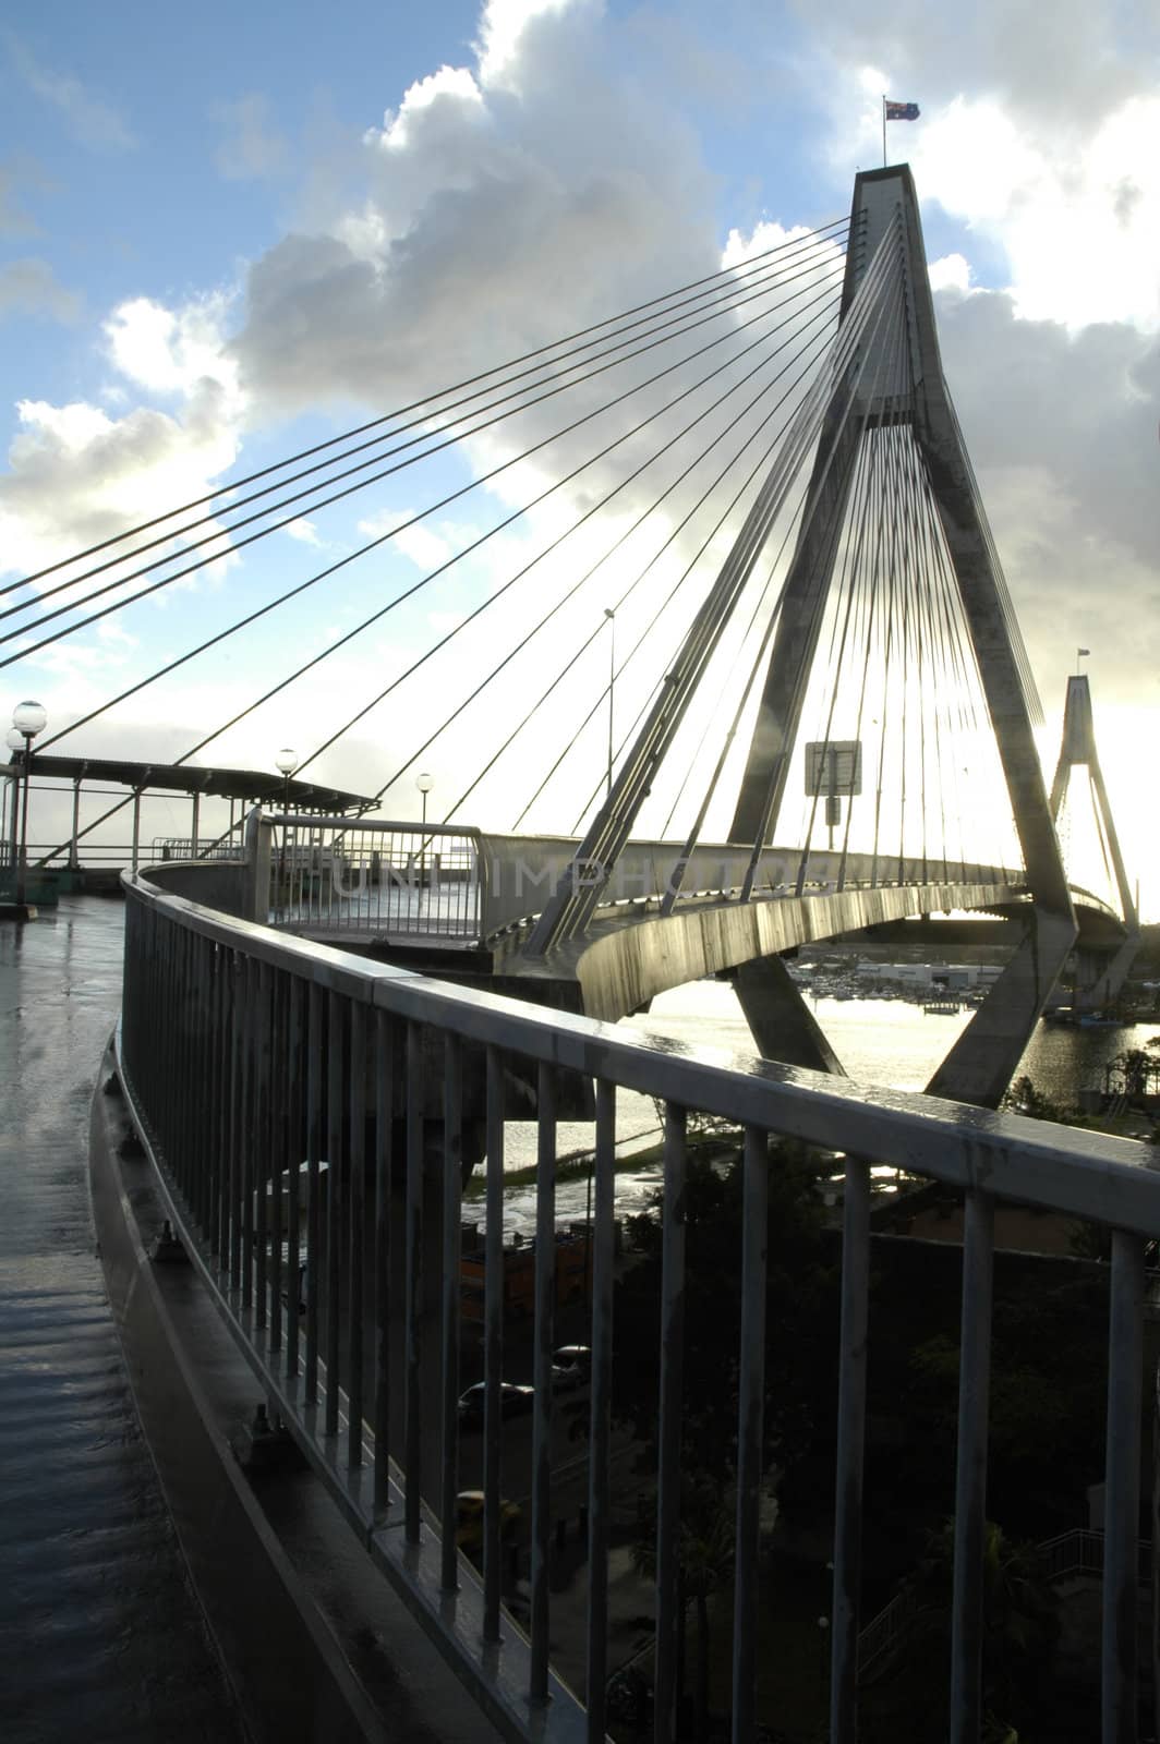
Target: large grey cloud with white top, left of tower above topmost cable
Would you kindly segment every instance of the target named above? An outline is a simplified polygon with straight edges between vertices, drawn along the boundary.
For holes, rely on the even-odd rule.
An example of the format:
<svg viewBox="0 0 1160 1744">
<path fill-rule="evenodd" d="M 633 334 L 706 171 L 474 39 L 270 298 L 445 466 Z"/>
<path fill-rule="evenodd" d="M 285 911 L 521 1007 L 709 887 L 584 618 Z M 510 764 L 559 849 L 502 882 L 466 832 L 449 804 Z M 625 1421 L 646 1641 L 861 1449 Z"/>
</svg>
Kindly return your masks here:
<svg viewBox="0 0 1160 1744">
<path fill-rule="evenodd" d="M 595 0 L 494 0 L 483 58 L 405 92 L 365 197 L 251 267 L 234 354 L 262 405 L 398 405 L 715 269 L 698 145 L 614 28 Z"/>
</svg>

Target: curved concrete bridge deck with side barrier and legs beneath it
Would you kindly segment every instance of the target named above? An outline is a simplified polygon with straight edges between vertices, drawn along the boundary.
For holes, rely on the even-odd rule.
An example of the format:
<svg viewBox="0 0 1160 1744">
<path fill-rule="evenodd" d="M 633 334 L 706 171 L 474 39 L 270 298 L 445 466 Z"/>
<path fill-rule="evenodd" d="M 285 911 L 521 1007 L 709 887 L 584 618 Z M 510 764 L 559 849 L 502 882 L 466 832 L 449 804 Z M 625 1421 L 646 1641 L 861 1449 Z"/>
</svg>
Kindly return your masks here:
<svg viewBox="0 0 1160 1744">
<path fill-rule="evenodd" d="M 611 872 L 586 869 L 600 903 L 584 931 L 541 954 L 530 949 L 537 919 L 576 879 L 574 839 L 255 811 L 246 853 L 249 895 L 239 912 L 279 930 L 607 1022 L 670 987 L 731 971 L 762 1057 L 836 1073 L 841 1060 L 788 978 L 785 952 L 907 917 L 1003 916 L 1013 966 L 938 1087 L 987 1106 L 1029 1039 L 1026 1013 L 1038 1017 L 1050 994 L 1043 977 L 1019 985 L 1036 968 L 1019 956 L 1034 917 L 1026 874 L 1010 867 L 788 848 L 752 855 L 729 842 L 703 842 L 682 858 L 680 844 L 626 842 Z M 180 879 L 176 869 L 166 874 L 169 888 Z M 1122 952 L 1115 910 L 1088 891 L 1073 896 L 1088 954 Z"/>
</svg>

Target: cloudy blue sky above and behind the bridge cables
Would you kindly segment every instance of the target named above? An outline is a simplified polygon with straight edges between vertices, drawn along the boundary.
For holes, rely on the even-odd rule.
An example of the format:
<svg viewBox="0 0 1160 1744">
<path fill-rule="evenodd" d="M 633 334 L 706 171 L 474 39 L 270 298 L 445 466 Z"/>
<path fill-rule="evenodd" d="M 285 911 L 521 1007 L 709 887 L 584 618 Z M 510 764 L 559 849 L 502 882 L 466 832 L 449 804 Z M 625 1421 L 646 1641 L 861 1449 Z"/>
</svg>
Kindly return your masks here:
<svg viewBox="0 0 1160 1744">
<path fill-rule="evenodd" d="M 890 129 L 891 159 L 918 181 L 944 364 L 1045 701 L 1045 757 L 1087 647 L 1129 869 L 1160 917 L 1157 0 L 1061 0 L 1050 31 L 1031 0 L 956 17 L 916 0 L 345 0 L 324 16 L 302 0 L 16 0 L 0 87 L 5 581 L 726 253 L 841 218 L 855 171 L 881 162 L 881 94 L 918 101 L 921 120 Z M 447 459 L 436 488 L 495 457 L 502 443 Z M 61 750 L 185 753 L 467 544 L 529 476 Z M 223 542 L 211 570 L 7 666 L 12 703 L 38 696 L 66 726 L 415 513 L 410 488 L 304 513 L 249 549 Z M 459 593 L 352 638 L 204 759 L 269 767 L 283 743 L 321 743 L 523 560 L 520 541 Z M 478 647 L 429 668 L 431 687 L 452 694 Z M 316 773 L 377 792 L 429 701 L 372 710 Z M 464 741 L 426 757 L 450 797 Z M 413 809 L 410 774 L 392 799 L 392 814 Z"/>
</svg>

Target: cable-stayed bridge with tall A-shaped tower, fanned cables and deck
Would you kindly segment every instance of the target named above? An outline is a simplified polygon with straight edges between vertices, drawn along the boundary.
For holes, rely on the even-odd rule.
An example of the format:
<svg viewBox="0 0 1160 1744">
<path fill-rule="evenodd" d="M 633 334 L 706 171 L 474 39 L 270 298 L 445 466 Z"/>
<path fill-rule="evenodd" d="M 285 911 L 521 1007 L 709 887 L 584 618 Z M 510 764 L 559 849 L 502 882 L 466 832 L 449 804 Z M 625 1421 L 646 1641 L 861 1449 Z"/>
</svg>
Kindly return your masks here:
<svg viewBox="0 0 1160 1744">
<path fill-rule="evenodd" d="M 462 483 L 447 473 L 455 462 L 469 469 Z M 1059 792 L 1048 802 L 1033 738 L 1034 682 L 942 375 L 909 176 L 863 174 L 848 225 L 790 235 L 31 577 L 23 596 L 10 589 L 5 635 L 17 652 L 7 659 L 72 638 L 356 492 L 403 476 L 413 501 L 412 473 L 440 490 L 426 509 L 384 511 L 354 551 L 263 598 L 42 750 L 75 745 L 94 719 L 115 720 L 131 698 L 215 659 L 223 642 L 255 628 L 269 638 L 304 595 L 412 541 L 426 574 L 270 673 L 176 759 L 174 783 L 242 722 L 290 706 L 345 649 L 405 621 L 420 595 L 454 600 L 455 621 L 440 623 L 297 769 L 302 780 L 373 724 L 391 764 L 370 809 L 394 816 L 420 762 L 440 767 L 440 788 L 455 781 L 429 853 L 419 844 L 410 862 L 406 830 L 391 849 L 349 825 L 331 853 L 335 832 L 319 827 L 314 851 L 326 867 L 361 867 L 366 881 L 386 851 L 387 886 L 399 865 L 438 877 L 452 841 L 440 832 L 506 809 L 509 830 L 502 841 L 487 830 L 471 874 L 474 944 L 492 952 L 492 973 L 539 998 L 555 977 L 565 1008 L 576 984 L 583 1010 L 616 1018 L 677 977 L 738 971 L 761 1052 L 830 1071 L 841 1066 L 780 952 L 914 914 L 1006 912 L 1020 942 L 931 1083 L 994 1104 L 1078 923 L 1054 830 Z M 481 483 L 513 508 L 487 530 L 452 525 L 466 504 L 478 513 Z M 440 591 L 452 586 L 450 598 Z M 366 603 L 366 584 L 358 598 Z M 290 652 L 302 654 L 293 638 L 276 642 L 269 664 Z M 359 741 L 363 792 L 366 764 Z M 1102 778 L 1099 797 L 1115 839 Z M 551 841 L 536 830 L 546 816 Z M 283 872 L 298 867 L 309 839 L 302 816 L 286 828 Z M 80 834 L 73 821 L 73 860 Z M 1115 996 L 1130 961 L 1120 945 L 1136 916 L 1115 855 L 1111 888 L 1078 893 L 1092 942 L 1080 970 L 1088 1001 Z M 274 909 L 321 937 L 340 919 L 351 937 L 328 877 L 319 858 L 309 877 L 316 914 L 302 877 L 293 903 L 274 891 Z M 375 930 L 372 905 L 363 909 L 389 952 L 391 926 Z M 405 931 L 433 912 L 427 893 Z M 516 923 L 529 924 L 516 935 Z M 483 957 L 474 966 L 487 968 Z"/>
</svg>

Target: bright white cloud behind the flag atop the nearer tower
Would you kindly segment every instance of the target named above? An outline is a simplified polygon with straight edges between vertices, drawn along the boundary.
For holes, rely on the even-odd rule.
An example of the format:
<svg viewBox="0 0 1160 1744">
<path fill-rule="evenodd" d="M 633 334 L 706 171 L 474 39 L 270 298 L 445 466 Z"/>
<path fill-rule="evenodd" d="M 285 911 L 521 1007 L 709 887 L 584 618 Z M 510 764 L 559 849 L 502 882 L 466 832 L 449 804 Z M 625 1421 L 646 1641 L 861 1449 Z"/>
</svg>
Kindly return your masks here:
<svg viewBox="0 0 1160 1744">
<path fill-rule="evenodd" d="M 1020 316 L 1160 324 L 1155 7 L 1061 0 L 1045 28 L 1034 0 L 884 0 L 872 16 L 832 0 L 809 26 L 836 174 L 879 162 L 883 92 L 914 99 L 918 122 L 888 124 L 890 157 L 1001 262 Z"/>
</svg>

